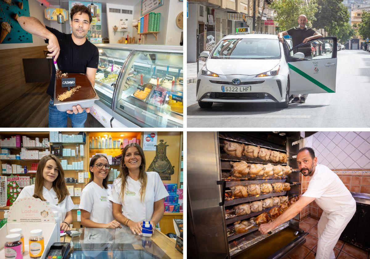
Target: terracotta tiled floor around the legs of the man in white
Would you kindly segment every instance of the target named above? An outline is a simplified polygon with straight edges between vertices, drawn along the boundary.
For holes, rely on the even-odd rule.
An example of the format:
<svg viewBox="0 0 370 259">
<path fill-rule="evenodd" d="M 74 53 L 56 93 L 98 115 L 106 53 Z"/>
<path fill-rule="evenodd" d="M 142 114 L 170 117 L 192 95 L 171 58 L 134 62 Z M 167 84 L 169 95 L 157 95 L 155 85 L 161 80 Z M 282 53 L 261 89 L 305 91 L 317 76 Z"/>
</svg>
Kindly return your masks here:
<svg viewBox="0 0 370 259">
<path fill-rule="evenodd" d="M 298 249 L 292 251 L 286 259 L 314 259 L 317 249 L 317 219 L 307 217 L 299 223 L 299 227 L 304 231 L 309 232 L 306 236 L 306 243 Z M 338 259 L 370 259 L 369 252 L 361 250 L 356 246 L 338 240 L 334 253 Z"/>
</svg>

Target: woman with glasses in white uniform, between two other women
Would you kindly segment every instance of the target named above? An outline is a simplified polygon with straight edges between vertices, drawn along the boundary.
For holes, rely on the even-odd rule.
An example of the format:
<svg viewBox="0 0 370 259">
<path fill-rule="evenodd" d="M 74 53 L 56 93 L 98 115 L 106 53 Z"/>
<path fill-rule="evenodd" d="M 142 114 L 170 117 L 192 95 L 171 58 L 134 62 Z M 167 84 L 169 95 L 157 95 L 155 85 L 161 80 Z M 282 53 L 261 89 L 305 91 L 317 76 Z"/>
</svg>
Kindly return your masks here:
<svg viewBox="0 0 370 259">
<path fill-rule="evenodd" d="M 107 184 L 110 164 L 105 155 L 94 155 L 90 161 L 90 181 L 82 190 L 80 198 L 81 224 L 85 228 L 118 228 L 114 220 L 112 202 L 109 196 L 112 189 Z"/>
</svg>

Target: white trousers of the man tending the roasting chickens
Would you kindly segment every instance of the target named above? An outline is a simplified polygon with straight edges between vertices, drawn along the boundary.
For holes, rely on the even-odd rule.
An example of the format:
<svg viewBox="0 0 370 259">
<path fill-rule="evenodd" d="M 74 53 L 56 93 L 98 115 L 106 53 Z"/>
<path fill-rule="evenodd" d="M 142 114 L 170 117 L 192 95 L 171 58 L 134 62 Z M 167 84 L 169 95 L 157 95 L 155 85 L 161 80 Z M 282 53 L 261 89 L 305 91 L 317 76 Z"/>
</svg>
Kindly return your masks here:
<svg viewBox="0 0 370 259">
<path fill-rule="evenodd" d="M 334 246 L 337 244 L 340 234 L 352 219 L 353 212 L 340 214 L 322 213 L 319 223 L 317 223 L 317 252 L 315 259 L 335 259 Z"/>
</svg>

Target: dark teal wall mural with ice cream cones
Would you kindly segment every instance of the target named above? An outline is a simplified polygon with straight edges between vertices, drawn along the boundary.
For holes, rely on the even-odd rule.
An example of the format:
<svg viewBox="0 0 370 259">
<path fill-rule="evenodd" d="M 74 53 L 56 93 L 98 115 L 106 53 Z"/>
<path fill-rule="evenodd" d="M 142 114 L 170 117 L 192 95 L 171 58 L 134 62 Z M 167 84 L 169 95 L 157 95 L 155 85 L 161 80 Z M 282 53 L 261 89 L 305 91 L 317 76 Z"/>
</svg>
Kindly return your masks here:
<svg viewBox="0 0 370 259">
<path fill-rule="evenodd" d="M 23 8 L 23 9 L 22 9 Z M 0 23 L 1 23 L 1 36 L 6 34 L 1 44 L 6 43 L 31 43 L 32 35 L 24 31 L 14 16 L 30 16 L 30 9 L 28 8 L 28 0 L 1 0 L 0 1 Z M 10 32 L 7 33 L 10 26 Z"/>
</svg>

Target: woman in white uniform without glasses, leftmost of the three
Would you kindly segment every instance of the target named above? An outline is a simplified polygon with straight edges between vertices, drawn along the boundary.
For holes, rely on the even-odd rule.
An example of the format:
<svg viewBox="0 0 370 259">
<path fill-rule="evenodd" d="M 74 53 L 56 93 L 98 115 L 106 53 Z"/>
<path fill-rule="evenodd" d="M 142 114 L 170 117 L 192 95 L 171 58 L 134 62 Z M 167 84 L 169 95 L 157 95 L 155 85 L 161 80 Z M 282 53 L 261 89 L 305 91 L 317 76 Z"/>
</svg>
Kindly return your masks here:
<svg viewBox="0 0 370 259">
<path fill-rule="evenodd" d="M 38 162 L 35 184 L 26 186 L 17 199 L 34 197 L 46 201 L 51 211 L 61 215 L 60 230 L 69 230 L 73 202 L 64 182 L 64 171 L 57 157 L 46 155 Z"/>
</svg>

